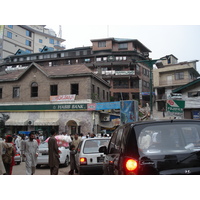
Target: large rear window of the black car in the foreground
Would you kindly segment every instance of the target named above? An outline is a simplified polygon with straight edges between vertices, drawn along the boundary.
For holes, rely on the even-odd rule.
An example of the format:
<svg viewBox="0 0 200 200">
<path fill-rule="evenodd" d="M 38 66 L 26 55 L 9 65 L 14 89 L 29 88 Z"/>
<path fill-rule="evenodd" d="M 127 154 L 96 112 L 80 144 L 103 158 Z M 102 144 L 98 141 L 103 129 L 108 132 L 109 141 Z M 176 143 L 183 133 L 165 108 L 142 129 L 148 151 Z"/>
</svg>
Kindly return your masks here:
<svg viewBox="0 0 200 200">
<path fill-rule="evenodd" d="M 176 154 L 200 150 L 200 126 L 159 124 L 145 127 L 138 135 L 138 147 L 145 154 Z"/>
</svg>

